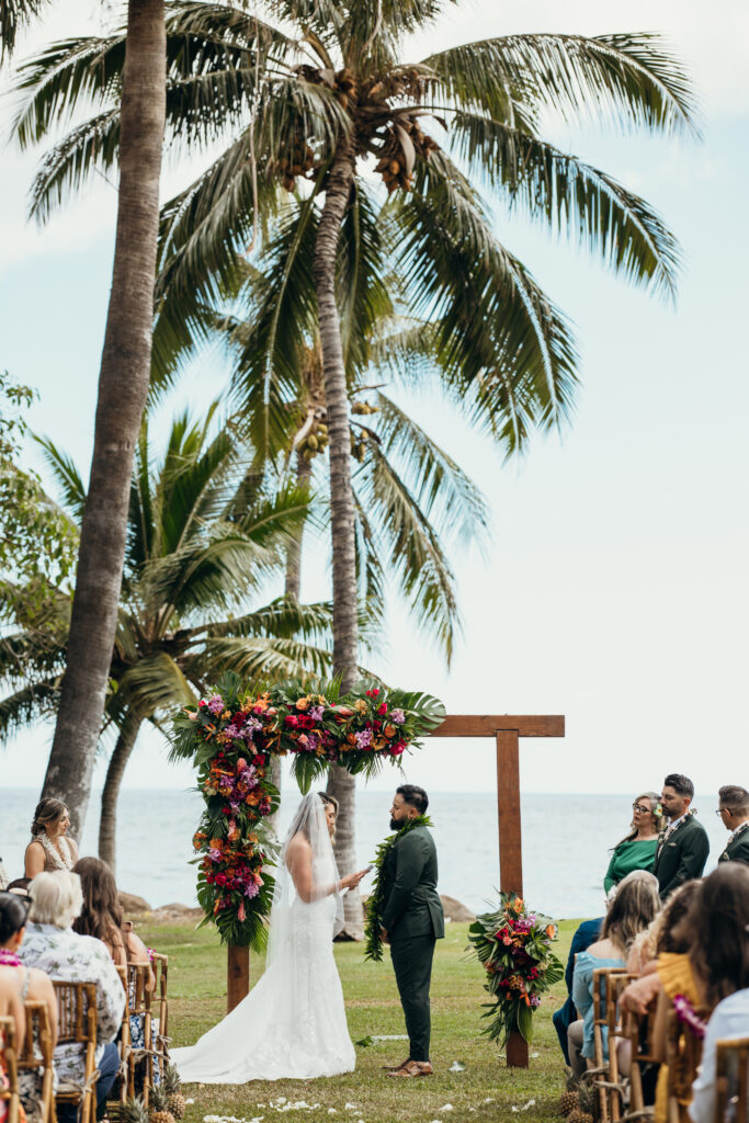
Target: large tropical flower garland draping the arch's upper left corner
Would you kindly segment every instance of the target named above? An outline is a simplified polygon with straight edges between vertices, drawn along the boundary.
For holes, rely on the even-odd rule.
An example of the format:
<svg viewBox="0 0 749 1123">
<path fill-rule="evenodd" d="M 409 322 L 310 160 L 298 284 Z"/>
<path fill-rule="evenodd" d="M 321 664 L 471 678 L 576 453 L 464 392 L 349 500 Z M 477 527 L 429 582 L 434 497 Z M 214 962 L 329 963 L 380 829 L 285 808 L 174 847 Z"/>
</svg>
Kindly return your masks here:
<svg viewBox="0 0 749 1123">
<path fill-rule="evenodd" d="M 372 776 L 401 766 L 418 738 L 445 719 L 429 694 L 337 682 L 247 686 L 223 675 L 197 705 L 174 720 L 172 759 L 192 759 L 205 809 L 193 847 L 203 923 L 216 923 L 223 943 L 261 950 L 273 902 L 268 867 L 277 844 L 265 820 L 278 806 L 271 780 L 274 756 L 292 756 L 302 792 L 331 764 Z"/>
</svg>

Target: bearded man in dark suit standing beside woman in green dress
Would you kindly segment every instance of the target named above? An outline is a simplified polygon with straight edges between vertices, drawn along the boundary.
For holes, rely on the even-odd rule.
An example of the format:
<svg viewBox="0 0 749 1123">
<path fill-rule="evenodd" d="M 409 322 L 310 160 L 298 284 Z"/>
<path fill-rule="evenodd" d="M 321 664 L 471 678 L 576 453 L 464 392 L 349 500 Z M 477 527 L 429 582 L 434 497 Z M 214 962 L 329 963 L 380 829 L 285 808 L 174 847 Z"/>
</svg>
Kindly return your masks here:
<svg viewBox="0 0 749 1123">
<path fill-rule="evenodd" d="M 658 878 L 660 900 L 693 877 L 702 877 L 710 842 L 704 827 L 691 810 L 694 784 L 687 776 L 670 773 L 664 780 L 660 805 L 669 823 L 658 836 L 658 849 L 652 873 Z"/>
</svg>

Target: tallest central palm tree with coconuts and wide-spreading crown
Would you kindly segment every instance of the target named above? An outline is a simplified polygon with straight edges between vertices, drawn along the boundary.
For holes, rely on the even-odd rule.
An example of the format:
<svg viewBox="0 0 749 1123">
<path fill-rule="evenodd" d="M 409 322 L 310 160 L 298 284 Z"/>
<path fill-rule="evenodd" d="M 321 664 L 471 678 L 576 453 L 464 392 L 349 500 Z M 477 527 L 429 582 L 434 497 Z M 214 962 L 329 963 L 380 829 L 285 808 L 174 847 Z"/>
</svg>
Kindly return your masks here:
<svg viewBox="0 0 749 1123">
<path fill-rule="evenodd" d="M 549 145 L 542 111 L 599 116 L 663 134 L 693 129 L 682 67 L 649 35 L 505 36 L 402 60 L 407 35 L 440 0 L 268 0 L 268 20 L 229 3 L 170 3 L 167 128 L 177 140 L 229 144 L 163 214 L 157 286 L 161 339 L 200 330 L 201 305 L 246 275 L 241 248 L 262 238 L 278 186 L 302 185 L 314 212 L 311 272 L 330 440 L 334 668 L 356 675 L 356 511 L 351 492 L 341 309 L 376 295 L 396 265 L 409 311 L 429 321 L 440 376 L 506 447 L 564 419 L 575 348 L 561 313 L 497 239 L 479 184 L 566 230 L 624 279 L 673 295 L 678 253 L 647 202 L 605 172 Z M 277 20 L 278 26 L 272 21 Z M 38 136 L 82 95 L 100 112 L 49 153 L 35 184 L 45 212 L 94 166 L 117 158 L 112 101 L 122 35 L 60 44 L 28 64 L 21 138 Z M 363 216 L 372 165 L 378 254 Z M 346 230 L 351 236 L 346 237 Z M 353 252 L 357 284 L 338 291 Z M 390 258 L 387 257 L 390 255 Z M 394 262 L 393 262 L 394 255 Z M 307 299 L 304 295 L 300 300 Z M 292 339 L 282 340 L 292 356 Z M 404 372 L 408 375 L 408 372 Z M 283 368 L 274 371 L 276 386 Z M 271 391 L 268 429 L 283 412 Z M 347 777 L 334 777 L 334 784 Z"/>
</svg>

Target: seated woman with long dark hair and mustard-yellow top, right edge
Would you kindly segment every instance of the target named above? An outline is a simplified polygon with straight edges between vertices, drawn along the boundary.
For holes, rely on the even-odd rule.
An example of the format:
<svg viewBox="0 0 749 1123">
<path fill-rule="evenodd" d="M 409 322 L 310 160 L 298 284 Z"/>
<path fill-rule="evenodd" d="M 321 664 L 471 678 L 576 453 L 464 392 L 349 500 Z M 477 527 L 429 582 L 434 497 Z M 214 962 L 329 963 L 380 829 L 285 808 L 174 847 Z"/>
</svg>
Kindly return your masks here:
<svg viewBox="0 0 749 1123">
<path fill-rule="evenodd" d="M 661 1006 L 678 1002 L 683 1019 L 698 1024 L 701 1008 L 712 1011 L 718 1003 L 749 986 L 749 867 L 724 861 L 700 883 L 692 906 L 674 929 L 682 951 L 661 952 L 657 970 L 643 975 L 622 995 L 625 1010 L 645 1014 L 657 998 Z M 666 1019 L 656 1020 L 656 1049 L 665 1047 Z M 679 1106 L 679 1123 L 688 1123 L 687 1105 Z M 655 1123 L 668 1116 L 668 1070 L 660 1066 L 656 1090 Z"/>
</svg>

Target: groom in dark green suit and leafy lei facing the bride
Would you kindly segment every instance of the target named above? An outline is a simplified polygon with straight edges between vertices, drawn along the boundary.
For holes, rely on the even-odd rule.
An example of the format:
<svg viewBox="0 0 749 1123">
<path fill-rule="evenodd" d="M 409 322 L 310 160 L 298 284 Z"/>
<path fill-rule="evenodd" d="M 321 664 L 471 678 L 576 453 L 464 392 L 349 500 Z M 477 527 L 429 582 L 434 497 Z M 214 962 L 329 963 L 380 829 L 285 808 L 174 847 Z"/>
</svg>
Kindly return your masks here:
<svg viewBox="0 0 749 1123">
<path fill-rule="evenodd" d="M 403 784 L 390 809 L 390 829 L 399 836 L 383 867 L 385 906 L 382 937 L 390 943 L 395 982 L 409 1034 L 408 1059 L 390 1076 L 431 1076 L 429 1063 L 429 984 L 435 942 L 445 935 L 445 914 L 437 893 L 437 849 L 426 823 L 429 797 L 422 787 Z"/>
</svg>

